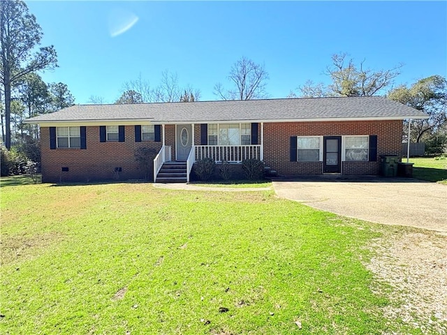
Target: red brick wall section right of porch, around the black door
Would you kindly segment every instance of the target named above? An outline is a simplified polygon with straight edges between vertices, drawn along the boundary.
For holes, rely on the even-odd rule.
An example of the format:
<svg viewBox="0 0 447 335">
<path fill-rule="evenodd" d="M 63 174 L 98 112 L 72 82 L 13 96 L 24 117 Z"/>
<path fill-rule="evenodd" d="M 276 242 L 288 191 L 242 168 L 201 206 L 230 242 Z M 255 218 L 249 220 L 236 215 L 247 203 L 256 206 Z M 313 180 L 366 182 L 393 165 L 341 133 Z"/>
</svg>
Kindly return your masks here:
<svg viewBox="0 0 447 335">
<path fill-rule="evenodd" d="M 377 162 L 342 162 L 343 174 L 379 174 L 380 155 L 400 156 L 402 121 L 327 121 L 264 124 L 264 161 L 281 175 L 321 174 L 322 162 L 291 162 L 290 137 L 377 135 Z"/>
</svg>

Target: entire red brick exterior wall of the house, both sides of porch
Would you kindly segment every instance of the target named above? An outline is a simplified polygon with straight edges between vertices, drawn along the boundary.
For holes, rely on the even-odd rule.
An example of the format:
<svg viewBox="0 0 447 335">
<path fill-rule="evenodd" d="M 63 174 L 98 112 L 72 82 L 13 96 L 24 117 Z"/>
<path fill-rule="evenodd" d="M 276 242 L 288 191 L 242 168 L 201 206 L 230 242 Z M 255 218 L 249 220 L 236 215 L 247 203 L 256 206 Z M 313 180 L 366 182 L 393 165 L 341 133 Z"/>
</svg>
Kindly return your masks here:
<svg viewBox="0 0 447 335">
<path fill-rule="evenodd" d="M 87 149 L 50 149 L 50 128 L 41 127 L 43 182 L 142 179 L 145 172 L 134 159 L 140 147 L 161 149 L 162 142 L 135 142 L 134 126 L 125 127 L 125 142 L 99 142 L 99 127 L 87 126 Z M 166 145 L 175 160 L 175 125 L 165 126 Z M 327 121 L 264 124 L 264 161 L 280 175 L 321 174 L 322 162 L 291 162 L 290 137 L 311 135 L 377 135 L 376 162 L 342 162 L 343 174 L 379 174 L 380 155 L 400 156 L 402 121 Z M 258 125 L 258 143 L 261 127 Z M 194 126 L 200 144 L 200 124 Z M 62 172 L 61 168 L 68 168 Z M 122 168 L 122 172 L 115 172 Z M 235 169 L 235 174 L 239 174 Z"/>
</svg>

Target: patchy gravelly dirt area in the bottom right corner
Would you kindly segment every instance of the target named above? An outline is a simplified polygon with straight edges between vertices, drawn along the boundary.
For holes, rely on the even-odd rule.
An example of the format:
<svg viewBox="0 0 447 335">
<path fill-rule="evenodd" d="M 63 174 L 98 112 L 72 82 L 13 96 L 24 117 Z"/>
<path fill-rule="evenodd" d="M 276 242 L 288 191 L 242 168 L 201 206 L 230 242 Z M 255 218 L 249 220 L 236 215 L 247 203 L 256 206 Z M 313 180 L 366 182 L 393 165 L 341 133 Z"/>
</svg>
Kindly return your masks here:
<svg viewBox="0 0 447 335">
<path fill-rule="evenodd" d="M 376 240 L 367 265 L 390 299 L 384 315 L 423 334 L 447 334 L 447 237 L 436 232 L 397 230 Z M 388 292 L 387 286 L 392 290 Z"/>
</svg>

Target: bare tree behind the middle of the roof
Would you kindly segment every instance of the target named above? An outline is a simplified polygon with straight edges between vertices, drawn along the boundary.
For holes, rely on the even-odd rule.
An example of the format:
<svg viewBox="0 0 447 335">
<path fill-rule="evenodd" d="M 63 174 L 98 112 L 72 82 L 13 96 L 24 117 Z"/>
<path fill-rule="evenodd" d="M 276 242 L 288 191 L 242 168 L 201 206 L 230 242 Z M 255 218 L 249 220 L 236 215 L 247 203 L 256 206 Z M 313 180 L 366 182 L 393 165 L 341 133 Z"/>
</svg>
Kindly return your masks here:
<svg viewBox="0 0 447 335">
<path fill-rule="evenodd" d="M 228 80 L 234 85 L 233 89 L 224 89 L 219 82 L 214 85 L 214 95 L 223 100 L 252 100 L 267 98 L 265 86 L 269 75 L 261 64 L 242 57 L 233 64 Z"/>
</svg>

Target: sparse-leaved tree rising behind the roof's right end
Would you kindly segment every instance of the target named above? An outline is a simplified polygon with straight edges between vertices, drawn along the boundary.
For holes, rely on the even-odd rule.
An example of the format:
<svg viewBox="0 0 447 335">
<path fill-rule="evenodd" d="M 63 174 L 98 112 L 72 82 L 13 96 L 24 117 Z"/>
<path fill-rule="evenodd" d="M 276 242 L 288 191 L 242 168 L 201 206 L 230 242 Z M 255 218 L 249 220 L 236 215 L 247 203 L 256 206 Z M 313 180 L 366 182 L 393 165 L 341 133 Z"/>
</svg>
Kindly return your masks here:
<svg viewBox="0 0 447 335">
<path fill-rule="evenodd" d="M 402 68 L 399 64 L 389 70 L 372 70 L 365 67 L 365 60 L 356 65 L 353 59 L 346 60 L 346 56 L 346 53 L 332 55 L 332 64 L 324 72 L 331 80 L 328 86 L 307 81 L 298 87 L 300 96 L 374 96 L 393 84 Z"/>
</svg>

